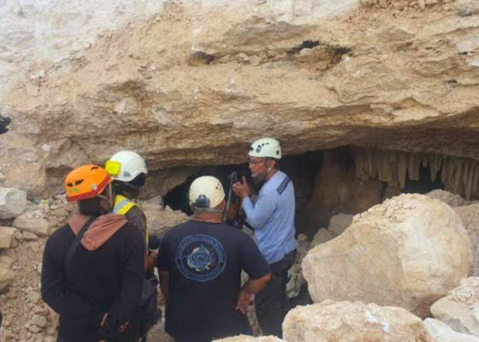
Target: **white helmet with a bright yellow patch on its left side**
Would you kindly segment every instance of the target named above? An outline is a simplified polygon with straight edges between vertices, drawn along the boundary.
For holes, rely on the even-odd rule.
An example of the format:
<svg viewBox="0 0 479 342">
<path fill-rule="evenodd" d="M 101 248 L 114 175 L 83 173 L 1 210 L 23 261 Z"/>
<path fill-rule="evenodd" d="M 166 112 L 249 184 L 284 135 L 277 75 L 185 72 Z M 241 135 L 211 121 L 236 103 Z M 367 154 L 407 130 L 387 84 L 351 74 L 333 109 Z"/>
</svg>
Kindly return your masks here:
<svg viewBox="0 0 479 342">
<path fill-rule="evenodd" d="M 144 159 L 131 150 L 122 150 L 115 153 L 107 161 L 105 169 L 115 181 L 130 182 L 139 174 L 147 174 Z"/>
</svg>

